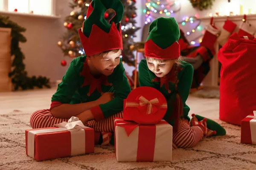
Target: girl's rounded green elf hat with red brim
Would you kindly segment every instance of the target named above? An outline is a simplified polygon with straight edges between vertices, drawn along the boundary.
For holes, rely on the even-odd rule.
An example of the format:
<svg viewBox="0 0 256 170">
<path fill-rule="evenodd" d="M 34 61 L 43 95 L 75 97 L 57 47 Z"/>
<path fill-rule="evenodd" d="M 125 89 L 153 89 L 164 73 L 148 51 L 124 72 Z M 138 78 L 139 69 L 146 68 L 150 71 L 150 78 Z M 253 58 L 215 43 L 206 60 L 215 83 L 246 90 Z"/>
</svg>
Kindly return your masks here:
<svg viewBox="0 0 256 170">
<path fill-rule="evenodd" d="M 177 59 L 180 57 L 180 29 L 173 17 L 160 17 L 149 26 L 145 42 L 145 57 L 156 59 Z"/>
</svg>

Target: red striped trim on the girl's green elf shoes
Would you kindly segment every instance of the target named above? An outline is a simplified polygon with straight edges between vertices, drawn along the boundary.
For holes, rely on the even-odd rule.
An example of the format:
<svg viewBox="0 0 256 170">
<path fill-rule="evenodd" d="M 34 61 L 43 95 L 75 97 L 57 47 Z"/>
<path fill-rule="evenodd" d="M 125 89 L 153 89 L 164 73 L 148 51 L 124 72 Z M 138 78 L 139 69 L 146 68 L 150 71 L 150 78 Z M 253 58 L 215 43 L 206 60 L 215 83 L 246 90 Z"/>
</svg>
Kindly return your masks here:
<svg viewBox="0 0 256 170">
<path fill-rule="evenodd" d="M 204 132 L 204 136 L 212 136 L 216 134 L 215 130 L 210 130 L 207 128 L 207 118 L 204 118 L 201 121 L 198 121 L 198 119 L 195 117 L 195 114 L 192 114 L 192 119 L 190 120 L 191 126 L 199 126 L 202 128 Z"/>
</svg>

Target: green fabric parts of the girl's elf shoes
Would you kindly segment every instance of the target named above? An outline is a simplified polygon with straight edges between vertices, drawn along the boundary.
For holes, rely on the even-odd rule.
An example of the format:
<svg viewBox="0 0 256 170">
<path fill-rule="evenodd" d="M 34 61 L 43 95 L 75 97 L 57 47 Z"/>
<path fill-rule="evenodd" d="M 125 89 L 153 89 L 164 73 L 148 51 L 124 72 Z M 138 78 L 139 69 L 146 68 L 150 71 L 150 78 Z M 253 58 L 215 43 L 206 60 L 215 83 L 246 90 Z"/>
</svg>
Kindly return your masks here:
<svg viewBox="0 0 256 170">
<path fill-rule="evenodd" d="M 195 115 L 196 119 L 198 119 L 198 121 L 201 121 L 203 119 L 205 119 L 203 116 L 199 116 L 199 115 Z M 217 122 L 211 120 L 211 119 L 207 119 L 206 121 L 207 124 L 207 128 L 216 131 L 216 135 L 215 136 L 221 136 L 221 135 L 226 135 L 226 130 L 219 125 Z"/>
</svg>

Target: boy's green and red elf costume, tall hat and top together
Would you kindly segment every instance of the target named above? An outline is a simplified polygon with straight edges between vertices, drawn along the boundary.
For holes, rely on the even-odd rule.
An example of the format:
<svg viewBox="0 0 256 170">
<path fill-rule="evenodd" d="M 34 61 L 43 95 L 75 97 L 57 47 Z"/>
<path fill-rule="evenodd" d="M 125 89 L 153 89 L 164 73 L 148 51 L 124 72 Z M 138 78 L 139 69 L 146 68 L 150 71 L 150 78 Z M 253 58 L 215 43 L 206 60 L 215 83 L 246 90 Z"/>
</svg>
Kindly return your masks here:
<svg viewBox="0 0 256 170">
<path fill-rule="evenodd" d="M 104 19 L 108 8 L 115 10 L 116 15 L 108 23 Z M 121 24 L 124 8 L 120 0 L 93 0 L 87 11 L 87 19 L 78 30 L 85 56 L 73 59 L 58 89 L 52 96 L 51 108 L 58 105 L 91 102 L 105 92 L 113 92 L 114 99 L 90 109 L 94 119 L 104 119 L 123 110 L 123 99 L 131 91 L 125 69 L 120 59 L 119 65 L 109 76 L 94 78 L 89 71 L 86 56 L 99 54 L 113 49 L 122 50 Z"/>
</svg>

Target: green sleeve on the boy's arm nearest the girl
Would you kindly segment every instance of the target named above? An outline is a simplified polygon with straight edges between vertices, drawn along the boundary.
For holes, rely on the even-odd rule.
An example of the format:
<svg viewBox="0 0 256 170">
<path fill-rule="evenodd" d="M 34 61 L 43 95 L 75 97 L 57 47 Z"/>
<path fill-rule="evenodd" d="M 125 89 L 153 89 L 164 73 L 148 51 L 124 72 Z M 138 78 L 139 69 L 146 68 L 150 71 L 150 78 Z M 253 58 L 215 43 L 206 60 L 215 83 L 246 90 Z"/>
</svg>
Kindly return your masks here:
<svg viewBox="0 0 256 170">
<path fill-rule="evenodd" d="M 126 99 L 131 92 L 131 87 L 125 75 L 125 68 L 123 67 L 121 59 L 119 65 L 115 69 L 113 75 L 114 99 L 108 103 L 99 105 L 104 117 L 112 116 L 113 114 L 122 111 L 124 99 Z"/>
</svg>

